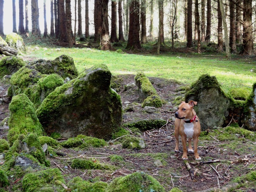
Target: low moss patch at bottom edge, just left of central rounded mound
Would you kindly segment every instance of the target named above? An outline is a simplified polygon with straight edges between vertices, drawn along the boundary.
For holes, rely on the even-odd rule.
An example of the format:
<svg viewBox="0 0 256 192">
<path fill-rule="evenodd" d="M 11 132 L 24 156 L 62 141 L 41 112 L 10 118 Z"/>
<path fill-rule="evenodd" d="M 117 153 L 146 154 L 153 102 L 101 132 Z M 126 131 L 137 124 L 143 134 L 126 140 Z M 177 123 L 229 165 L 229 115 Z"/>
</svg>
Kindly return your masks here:
<svg viewBox="0 0 256 192">
<path fill-rule="evenodd" d="M 91 191 L 91 192 L 105 192 L 108 184 L 102 181 L 95 183 L 85 181 L 80 177 L 75 177 L 68 182 L 68 187 L 72 191 Z"/>
</svg>

